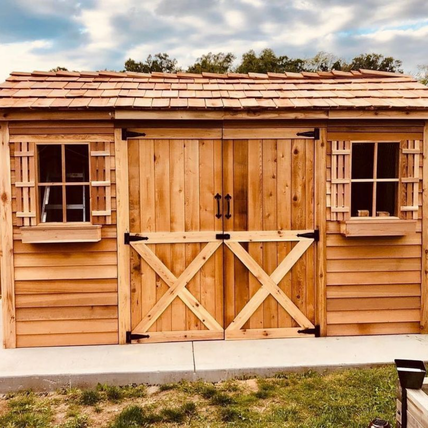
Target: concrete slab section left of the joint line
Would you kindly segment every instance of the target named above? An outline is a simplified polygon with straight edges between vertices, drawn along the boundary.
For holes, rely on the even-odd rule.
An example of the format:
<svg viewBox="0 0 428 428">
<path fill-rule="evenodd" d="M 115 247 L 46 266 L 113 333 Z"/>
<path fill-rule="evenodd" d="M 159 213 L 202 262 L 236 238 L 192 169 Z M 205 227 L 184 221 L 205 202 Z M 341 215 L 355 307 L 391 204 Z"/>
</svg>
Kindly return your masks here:
<svg viewBox="0 0 428 428">
<path fill-rule="evenodd" d="M 194 369 L 191 342 L 0 348 L 0 393 L 22 388 L 52 390 L 98 382 L 166 383 L 193 379 Z"/>
</svg>

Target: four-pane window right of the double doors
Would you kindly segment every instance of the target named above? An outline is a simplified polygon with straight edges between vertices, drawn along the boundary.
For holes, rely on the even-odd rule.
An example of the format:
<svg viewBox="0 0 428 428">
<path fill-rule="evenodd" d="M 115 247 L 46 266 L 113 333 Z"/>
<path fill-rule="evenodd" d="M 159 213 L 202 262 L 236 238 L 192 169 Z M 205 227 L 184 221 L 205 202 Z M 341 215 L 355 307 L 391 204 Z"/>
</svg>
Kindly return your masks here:
<svg viewBox="0 0 428 428">
<path fill-rule="evenodd" d="M 398 214 L 400 143 L 352 143 L 351 217 Z"/>
</svg>

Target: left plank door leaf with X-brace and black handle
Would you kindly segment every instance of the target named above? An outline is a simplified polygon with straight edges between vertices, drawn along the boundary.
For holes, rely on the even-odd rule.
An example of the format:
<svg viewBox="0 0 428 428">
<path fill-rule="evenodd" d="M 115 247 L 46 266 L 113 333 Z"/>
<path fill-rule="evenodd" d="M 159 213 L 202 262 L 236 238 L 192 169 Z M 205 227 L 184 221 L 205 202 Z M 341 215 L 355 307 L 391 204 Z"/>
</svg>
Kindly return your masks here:
<svg viewBox="0 0 428 428">
<path fill-rule="evenodd" d="M 128 165 L 128 342 L 223 339 L 222 141 L 129 139 Z"/>
</svg>

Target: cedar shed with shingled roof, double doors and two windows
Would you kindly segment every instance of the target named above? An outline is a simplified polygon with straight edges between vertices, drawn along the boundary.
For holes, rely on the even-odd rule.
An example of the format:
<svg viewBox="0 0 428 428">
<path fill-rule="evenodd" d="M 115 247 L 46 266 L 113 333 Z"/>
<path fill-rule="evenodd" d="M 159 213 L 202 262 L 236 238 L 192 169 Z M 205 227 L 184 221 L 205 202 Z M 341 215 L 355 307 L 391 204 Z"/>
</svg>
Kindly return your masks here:
<svg viewBox="0 0 428 428">
<path fill-rule="evenodd" d="M 428 88 L 13 72 L 6 348 L 428 332 Z"/>
</svg>

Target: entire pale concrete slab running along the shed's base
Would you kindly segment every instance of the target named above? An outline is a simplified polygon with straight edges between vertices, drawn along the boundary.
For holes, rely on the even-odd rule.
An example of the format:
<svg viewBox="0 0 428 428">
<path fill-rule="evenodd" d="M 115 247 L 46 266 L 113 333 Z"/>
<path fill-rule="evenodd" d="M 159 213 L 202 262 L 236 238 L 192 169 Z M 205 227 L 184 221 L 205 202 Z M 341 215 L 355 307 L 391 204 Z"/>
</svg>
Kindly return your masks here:
<svg viewBox="0 0 428 428">
<path fill-rule="evenodd" d="M 240 375 L 375 366 L 395 358 L 428 360 L 428 335 L 0 348 L 0 393 L 98 382 L 214 382 Z"/>
</svg>

